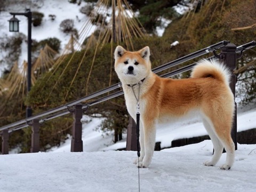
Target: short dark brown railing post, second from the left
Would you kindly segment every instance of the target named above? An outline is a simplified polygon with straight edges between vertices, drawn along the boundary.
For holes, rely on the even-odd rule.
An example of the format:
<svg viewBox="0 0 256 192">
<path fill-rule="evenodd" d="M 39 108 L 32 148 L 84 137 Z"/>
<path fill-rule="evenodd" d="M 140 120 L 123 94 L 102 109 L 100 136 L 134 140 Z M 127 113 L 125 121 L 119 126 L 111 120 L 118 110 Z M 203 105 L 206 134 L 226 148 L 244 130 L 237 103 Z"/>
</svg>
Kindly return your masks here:
<svg viewBox="0 0 256 192">
<path fill-rule="evenodd" d="M 40 129 L 40 124 L 39 124 L 39 119 L 34 119 L 31 130 L 31 148 L 30 152 L 31 153 L 37 153 L 40 150 L 39 147 L 39 129 Z"/>
</svg>

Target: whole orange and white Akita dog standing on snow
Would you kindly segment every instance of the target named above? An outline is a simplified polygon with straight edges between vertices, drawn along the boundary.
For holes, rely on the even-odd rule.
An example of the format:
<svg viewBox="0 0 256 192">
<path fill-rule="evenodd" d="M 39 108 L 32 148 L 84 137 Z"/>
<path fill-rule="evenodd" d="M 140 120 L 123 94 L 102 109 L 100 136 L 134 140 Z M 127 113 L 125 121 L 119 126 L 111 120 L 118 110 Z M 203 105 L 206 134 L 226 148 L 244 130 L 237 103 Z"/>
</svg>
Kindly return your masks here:
<svg viewBox="0 0 256 192">
<path fill-rule="evenodd" d="M 140 104 L 139 166 L 148 167 L 151 163 L 156 124 L 189 117 L 197 111 L 214 148 L 212 159 L 204 165 L 215 165 L 224 147 L 227 159 L 221 169 L 230 169 L 235 158 L 230 134 L 235 103 L 228 70 L 218 61 L 202 60 L 194 67 L 191 78 L 161 78 L 151 71 L 149 56 L 148 46 L 136 52 L 117 46 L 114 53 L 115 71 L 122 83 L 126 107 L 135 121 L 137 103 Z"/>
</svg>

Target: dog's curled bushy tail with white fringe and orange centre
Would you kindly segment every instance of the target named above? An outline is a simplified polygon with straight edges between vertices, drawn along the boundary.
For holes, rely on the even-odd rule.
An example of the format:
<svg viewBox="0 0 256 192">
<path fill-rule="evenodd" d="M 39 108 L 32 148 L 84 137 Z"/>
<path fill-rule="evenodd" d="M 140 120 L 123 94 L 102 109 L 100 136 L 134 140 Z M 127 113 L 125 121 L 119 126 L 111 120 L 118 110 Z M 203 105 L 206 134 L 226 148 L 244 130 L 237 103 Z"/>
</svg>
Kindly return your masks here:
<svg viewBox="0 0 256 192">
<path fill-rule="evenodd" d="M 202 59 L 193 68 L 192 78 L 213 77 L 229 85 L 230 73 L 227 67 L 217 60 Z"/>
</svg>

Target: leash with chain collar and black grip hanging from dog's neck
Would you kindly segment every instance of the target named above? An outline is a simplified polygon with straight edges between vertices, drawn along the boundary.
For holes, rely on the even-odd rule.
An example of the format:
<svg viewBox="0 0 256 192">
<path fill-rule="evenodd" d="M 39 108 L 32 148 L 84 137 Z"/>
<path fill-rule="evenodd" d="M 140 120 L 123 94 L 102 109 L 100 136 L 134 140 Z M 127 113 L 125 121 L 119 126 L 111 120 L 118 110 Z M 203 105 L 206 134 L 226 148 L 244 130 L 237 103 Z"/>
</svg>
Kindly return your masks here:
<svg viewBox="0 0 256 192">
<path fill-rule="evenodd" d="M 145 79 L 145 78 L 144 78 Z M 137 134 L 137 155 L 138 155 L 138 181 L 139 181 L 139 192 L 140 192 L 140 85 L 143 83 L 144 79 L 142 79 L 141 82 L 133 84 L 133 85 L 128 85 L 132 88 L 132 92 L 134 94 L 134 97 L 137 101 L 136 103 L 136 134 Z M 139 91 L 138 91 L 138 97 L 135 94 L 135 91 L 133 89 L 134 86 L 139 85 Z"/>
</svg>

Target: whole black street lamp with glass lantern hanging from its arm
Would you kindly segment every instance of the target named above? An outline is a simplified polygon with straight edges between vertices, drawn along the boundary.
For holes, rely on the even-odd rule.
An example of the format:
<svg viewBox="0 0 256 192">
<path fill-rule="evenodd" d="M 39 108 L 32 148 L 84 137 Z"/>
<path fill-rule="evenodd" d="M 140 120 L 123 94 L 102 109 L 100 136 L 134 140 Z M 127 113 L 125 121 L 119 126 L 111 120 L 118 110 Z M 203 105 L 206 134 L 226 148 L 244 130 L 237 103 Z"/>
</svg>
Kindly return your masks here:
<svg viewBox="0 0 256 192">
<path fill-rule="evenodd" d="M 27 9 L 25 13 L 15 13 L 10 12 L 13 18 L 9 20 L 9 30 L 11 32 L 19 31 L 19 20 L 15 18 L 15 15 L 24 15 L 28 18 L 28 69 L 27 69 L 27 93 L 30 91 L 31 87 L 31 23 L 32 23 L 32 13 L 30 9 Z M 26 117 L 32 115 L 32 109 L 28 106 L 26 109 Z"/>
</svg>

